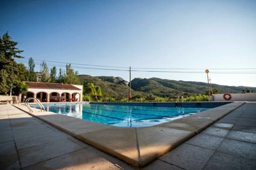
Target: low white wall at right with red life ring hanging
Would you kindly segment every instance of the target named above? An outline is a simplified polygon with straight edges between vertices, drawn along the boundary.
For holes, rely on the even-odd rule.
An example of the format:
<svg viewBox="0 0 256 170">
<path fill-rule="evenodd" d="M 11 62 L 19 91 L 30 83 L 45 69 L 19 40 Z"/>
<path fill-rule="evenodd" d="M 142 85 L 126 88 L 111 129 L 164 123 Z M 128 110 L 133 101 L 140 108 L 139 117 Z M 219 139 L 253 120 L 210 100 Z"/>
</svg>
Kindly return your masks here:
<svg viewBox="0 0 256 170">
<path fill-rule="evenodd" d="M 256 101 L 256 93 L 230 93 L 230 100 L 225 100 L 223 95 L 214 94 L 213 101 Z M 228 96 L 226 97 L 228 98 Z"/>
</svg>

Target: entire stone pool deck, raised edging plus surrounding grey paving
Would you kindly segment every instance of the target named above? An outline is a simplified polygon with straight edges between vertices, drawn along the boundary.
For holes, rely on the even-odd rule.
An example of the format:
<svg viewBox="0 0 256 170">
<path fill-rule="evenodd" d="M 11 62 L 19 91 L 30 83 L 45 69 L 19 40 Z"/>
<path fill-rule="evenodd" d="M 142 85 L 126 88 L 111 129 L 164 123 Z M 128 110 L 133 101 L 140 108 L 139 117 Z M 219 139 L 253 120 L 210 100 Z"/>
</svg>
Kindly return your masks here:
<svg viewBox="0 0 256 170">
<path fill-rule="evenodd" d="M 234 102 L 191 115 L 189 118 L 184 117 L 156 126 L 141 128 L 120 128 L 56 113 L 35 111 L 33 113 L 34 116 L 43 120 L 41 121 L 20 111 L 12 105 L 1 105 L 0 127 L 3 129 L 1 130 L 3 141 L 0 142 L 1 157 L 6 157 L 6 154 L 12 153 L 12 158 L 14 159 L 14 155 L 16 154 L 18 158 L 16 161 L 18 169 L 20 168 L 18 165 L 22 168 L 27 167 L 28 169 L 36 169 L 36 167 L 40 167 L 40 169 L 42 169 L 42 167 L 49 169 L 68 169 L 73 166 L 80 167 L 80 165 L 80 168 L 84 169 L 86 169 L 85 167 L 87 165 L 92 165 L 98 169 L 118 169 L 118 167 L 133 169 L 135 167 L 129 166 L 92 146 L 124 160 L 129 164 L 141 167 L 181 144 L 145 166 L 143 169 L 219 169 L 218 167 L 227 166 L 226 163 L 221 164 L 220 162 L 225 162 L 228 159 L 230 159 L 229 161 L 237 160 L 233 161 L 232 164 L 229 163 L 231 167 L 236 168 L 239 163 L 241 167 L 253 169 L 253 167 L 256 167 L 256 103 L 246 103 L 242 105 L 243 103 L 244 102 Z M 15 106 L 19 106 L 24 110 L 27 109 L 22 105 Z M 228 115 L 225 116 L 226 114 Z M 223 116 L 225 117 L 222 118 Z M 217 120 L 219 121 L 216 122 Z M 55 129 L 45 122 L 92 146 Z M 207 129 L 204 130 L 205 128 Z M 55 129 L 58 134 L 53 135 L 53 132 L 49 132 L 49 129 Z M 200 131 L 202 132 L 196 135 Z M 58 143 L 60 143 L 60 145 L 62 143 L 63 146 L 71 146 L 60 149 L 60 151 L 58 149 L 54 150 L 54 148 L 59 145 Z M 12 147 L 9 145 L 12 145 Z M 13 145 L 15 145 L 15 147 L 13 147 Z M 243 146 L 246 148 L 241 149 Z M 36 148 L 38 147 L 40 152 L 37 152 L 38 149 Z M 45 147 L 46 150 L 44 150 Z M 11 148 L 11 151 L 8 148 Z M 30 151 L 31 148 L 32 151 Z M 87 158 L 79 158 L 79 163 L 74 160 L 69 160 L 66 164 L 57 163 L 57 165 L 51 165 L 51 162 L 57 161 L 60 157 L 65 158 L 65 155 L 67 157 L 67 155 L 72 155 L 73 152 L 79 152 L 80 150 L 84 150 L 84 154 L 87 155 L 88 148 L 90 148 L 91 151 L 93 150 L 94 153 L 92 154 L 94 156 L 91 158 L 90 156 L 87 156 Z M 50 154 L 46 152 L 47 149 L 52 149 L 52 151 L 50 150 Z M 42 158 L 44 157 L 43 154 L 46 154 L 46 158 Z M 82 154 L 83 153 L 80 153 L 81 157 Z M 33 160 L 36 159 L 35 157 L 39 158 L 33 162 Z M 96 157 L 99 160 L 95 162 Z M 108 158 L 106 159 L 106 157 Z M 78 158 L 75 157 L 75 159 Z M 84 162 L 82 161 L 83 159 Z M 8 164 L 8 160 L 9 159 L 5 162 L 1 160 L 1 167 L 2 164 Z M 103 164 L 105 163 L 104 166 L 106 167 L 101 167 L 101 161 Z M 9 165 L 15 164 L 10 163 Z M 8 166 L 4 167 L 6 168 Z M 87 168 L 93 169 L 92 167 Z"/>
</svg>

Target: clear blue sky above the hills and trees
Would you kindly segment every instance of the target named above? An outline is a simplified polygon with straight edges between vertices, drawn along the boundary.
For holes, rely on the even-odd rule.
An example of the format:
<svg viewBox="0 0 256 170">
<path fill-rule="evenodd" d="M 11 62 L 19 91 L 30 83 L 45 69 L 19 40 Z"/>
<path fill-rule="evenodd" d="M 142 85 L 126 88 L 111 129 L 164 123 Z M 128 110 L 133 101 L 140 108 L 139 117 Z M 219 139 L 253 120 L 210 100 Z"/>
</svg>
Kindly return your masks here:
<svg viewBox="0 0 256 170">
<path fill-rule="evenodd" d="M 0 23 L 0 35 L 9 31 L 24 61 L 194 68 L 161 71 L 202 74 L 132 72 L 132 79 L 197 82 L 207 82 L 209 69 L 211 83 L 256 86 L 256 74 L 213 73 L 256 72 L 255 0 L 0 1 Z M 253 70 L 211 70 L 230 68 Z M 74 70 L 129 81 L 125 71 Z"/>
</svg>

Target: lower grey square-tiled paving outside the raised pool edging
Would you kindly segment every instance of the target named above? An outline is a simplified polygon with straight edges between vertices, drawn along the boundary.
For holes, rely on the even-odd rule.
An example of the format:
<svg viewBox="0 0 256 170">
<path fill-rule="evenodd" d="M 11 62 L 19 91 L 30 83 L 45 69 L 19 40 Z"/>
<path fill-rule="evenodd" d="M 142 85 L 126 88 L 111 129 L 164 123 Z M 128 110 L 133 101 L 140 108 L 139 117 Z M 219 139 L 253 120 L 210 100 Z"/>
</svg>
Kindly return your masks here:
<svg viewBox="0 0 256 170">
<path fill-rule="evenodd" d="M 0 169 L 135 169 L 12 105 L 0 105 L 0 136 Z M 247 102 L 141 169 L 255 168 L 256 103 Z"/>
</svg>

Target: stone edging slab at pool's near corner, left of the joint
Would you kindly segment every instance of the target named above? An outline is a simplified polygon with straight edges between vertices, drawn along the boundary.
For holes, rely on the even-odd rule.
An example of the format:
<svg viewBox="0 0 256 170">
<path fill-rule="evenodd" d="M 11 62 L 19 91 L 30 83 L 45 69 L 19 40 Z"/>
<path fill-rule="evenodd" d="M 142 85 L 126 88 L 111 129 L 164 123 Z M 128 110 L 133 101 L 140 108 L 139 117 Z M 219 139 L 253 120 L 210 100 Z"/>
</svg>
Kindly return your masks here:
<svg viewBox="0 0 256 170">
<path fill-rule="evenodd" d="M 132 165 L 139 166 L 135 128 L 112 127 L 83 133 L 78 135 L 78 138 Z"/>
</svg>

